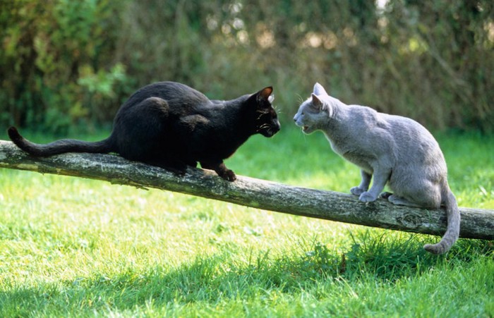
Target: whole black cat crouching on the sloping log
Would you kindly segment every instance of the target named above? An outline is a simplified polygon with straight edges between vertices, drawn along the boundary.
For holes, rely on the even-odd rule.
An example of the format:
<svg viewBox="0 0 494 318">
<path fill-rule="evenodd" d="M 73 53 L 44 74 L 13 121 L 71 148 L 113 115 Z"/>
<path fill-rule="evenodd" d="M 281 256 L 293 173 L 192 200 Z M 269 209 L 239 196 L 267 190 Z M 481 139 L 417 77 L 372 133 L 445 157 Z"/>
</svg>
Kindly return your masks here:
<svg viewBox="0 0 494 318">
<path fill-rule="evenodd" d="M 187 166 L 213 169 L 235 181 L 223 160 L 248 137 L 272 137 L 279 121 L 272 87 L 230 101 L 211 101 L 178 82 L 156 82 L 135 92 L 119 109 L 112 134 L 99 142 L 57 140 L 39 145 L 25 140 L 16 128 L 8 136 L 25 152 L 47 157 L 64 152 L 116 152 L 126 159 L 184 173 Z"/>
</svg>

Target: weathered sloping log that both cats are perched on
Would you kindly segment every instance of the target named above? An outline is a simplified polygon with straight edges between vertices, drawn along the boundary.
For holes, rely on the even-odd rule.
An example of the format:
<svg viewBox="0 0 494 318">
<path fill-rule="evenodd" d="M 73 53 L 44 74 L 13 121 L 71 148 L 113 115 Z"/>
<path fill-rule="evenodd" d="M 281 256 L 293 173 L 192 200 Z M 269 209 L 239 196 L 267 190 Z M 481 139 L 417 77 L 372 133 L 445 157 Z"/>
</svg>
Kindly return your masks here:
<svg viewBox="0 0 494 318">
<path fill-rule="evenodd" d="M 243 176 L 230 183 L 212 171 L 201 169 L 188 169 L 179 176 L 112 154 L 70 153 L 32 157 L 12 142 L 0 140 L 0 167 L 157 188 L 275 212 L 400 231 L 442 235 L 446 229 L 446 214 L 442 210 L 399 207 L 386 200 L 362 203 L 349 194 Z M 460 213 L 460 237 L 494 240 L 493 210 L 460 208 Z"/>
</svg>

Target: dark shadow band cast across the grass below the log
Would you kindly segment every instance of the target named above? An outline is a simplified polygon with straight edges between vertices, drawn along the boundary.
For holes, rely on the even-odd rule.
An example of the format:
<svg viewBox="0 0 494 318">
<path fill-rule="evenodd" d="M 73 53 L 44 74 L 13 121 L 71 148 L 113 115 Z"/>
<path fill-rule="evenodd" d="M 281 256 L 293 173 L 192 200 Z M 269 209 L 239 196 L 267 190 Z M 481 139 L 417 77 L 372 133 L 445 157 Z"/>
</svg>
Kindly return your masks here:
<svg viewBox="0 0 494 318">
<path fill-rule="evenodd" d="M 282 257 L 271 257 L 267 251 L 237 261 L 239 255 L 224 252 L 197 257 L 171 270 L 159 265 L 144 272 L 128 267 L 113 276 L 95 274 L 35 287 L 13 286 L 0 293 L 0 313 L 4 317 L 84 315 L 148 307 L 167 312 L 175 305 L 195 302 L 212 307 L 231 300 L 269 303 L 271 295 L 297 295 L 335 281 L 351 285 L 373 279 L 392 285 L 433 268 L 466 265 L 479 256 L 494 255 L 490 242 L 459 240 L 448 255 L 437 257 L 421 248 L 430 236 L 388 233 L 366 231 L 352 236 L 351 247 L 344 253 L 314 239 L 299 243 L 297 252 Z"/>
</svg>

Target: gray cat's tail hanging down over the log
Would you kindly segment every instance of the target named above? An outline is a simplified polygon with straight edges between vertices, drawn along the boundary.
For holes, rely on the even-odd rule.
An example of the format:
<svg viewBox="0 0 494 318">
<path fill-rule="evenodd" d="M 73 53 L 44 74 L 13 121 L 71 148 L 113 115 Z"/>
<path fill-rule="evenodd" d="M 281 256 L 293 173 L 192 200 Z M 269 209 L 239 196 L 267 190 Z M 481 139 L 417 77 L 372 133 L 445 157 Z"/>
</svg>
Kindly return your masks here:
<svg viewBox="0 0 494 318">
<path fill-rule="evenodd" d="M 454 242 L 459 237 L 459 209 L 456 197 L 454 197 L 450 188 L 447 187 L 447 194 L 445 195 L 444 204 L 446 207 L 447 215 L 447 228 L 446 233 L 442 236 L 442 239 L 437 244 L 426 244 L 423 248 L 433 254 L 443 254 L 450 250 Z"/>
</svg>

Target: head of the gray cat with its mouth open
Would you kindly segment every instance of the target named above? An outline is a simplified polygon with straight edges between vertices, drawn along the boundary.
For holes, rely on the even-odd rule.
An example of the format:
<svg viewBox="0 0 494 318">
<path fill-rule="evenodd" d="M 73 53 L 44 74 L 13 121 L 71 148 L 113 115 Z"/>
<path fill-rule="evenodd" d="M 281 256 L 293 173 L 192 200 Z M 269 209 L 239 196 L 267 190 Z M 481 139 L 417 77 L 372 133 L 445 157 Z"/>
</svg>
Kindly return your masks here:
<svg viewBox="0 0 494 318">
<path fill-rule="evenodd" d="M 333 114 L 333 103 L 337 101 L 327 94 L 323 85 L 316 82 L 311 97 L 300 105 L 294 116 L 296 126 L 301 127 L 306 134 L 325 128 Z"/>
</svg>

